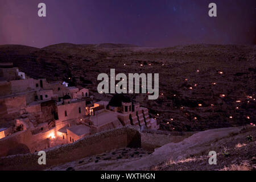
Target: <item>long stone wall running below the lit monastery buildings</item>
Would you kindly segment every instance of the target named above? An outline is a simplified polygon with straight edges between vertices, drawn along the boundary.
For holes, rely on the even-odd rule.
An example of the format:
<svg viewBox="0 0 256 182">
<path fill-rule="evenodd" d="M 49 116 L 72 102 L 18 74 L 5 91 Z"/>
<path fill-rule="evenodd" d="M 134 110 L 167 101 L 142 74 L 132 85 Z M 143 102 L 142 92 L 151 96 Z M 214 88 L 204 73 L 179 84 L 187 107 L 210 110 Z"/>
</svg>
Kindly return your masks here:
<svg viewBox="0 0 256 182">
<path fill-rule="evenodd" d="M 0 170 L 42 170 L 123 147 L 141 147 L 141 134 L 137 127 L 123 126 L 90 135 L 71 144 L 49 148 L 46 150 L 46 165 L 38 164 L 38 152 L 3 157 L 0 158 Z"/>
</svg>

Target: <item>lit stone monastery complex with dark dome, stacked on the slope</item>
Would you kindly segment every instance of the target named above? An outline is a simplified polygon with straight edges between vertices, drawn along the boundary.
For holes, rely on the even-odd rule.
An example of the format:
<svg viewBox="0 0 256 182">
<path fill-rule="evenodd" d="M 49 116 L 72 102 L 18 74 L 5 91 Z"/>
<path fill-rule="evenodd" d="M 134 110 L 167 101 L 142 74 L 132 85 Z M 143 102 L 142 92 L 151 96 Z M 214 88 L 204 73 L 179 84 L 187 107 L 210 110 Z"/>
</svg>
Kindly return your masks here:
<svg viewBox="0 0 256 182">
<path fill-rule="evenodd" d="M 86 88 L 47 82 L 0 64 L 0 156 L 36 152 L 125 125 L 158 129 L 148 110 L 117 94 L 94 102 Z M 11 151 L 11 152 L 10 152 Z M 17 153 L 17 154 L 18 154 Z"/>
</svg>

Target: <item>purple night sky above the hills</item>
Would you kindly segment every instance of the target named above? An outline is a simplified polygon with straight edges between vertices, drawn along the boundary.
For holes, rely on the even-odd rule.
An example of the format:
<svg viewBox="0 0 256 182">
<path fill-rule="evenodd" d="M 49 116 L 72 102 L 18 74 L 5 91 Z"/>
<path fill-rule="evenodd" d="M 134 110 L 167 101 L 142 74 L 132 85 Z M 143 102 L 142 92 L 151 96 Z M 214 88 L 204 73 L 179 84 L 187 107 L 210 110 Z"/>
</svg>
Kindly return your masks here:
<svg viewBox="0 0 256 182">
<path fill-rule="evenodd" d="M 255 44 L 255 11 L 255 0 L 0 0 L 0 44 Z"/>
</svg>

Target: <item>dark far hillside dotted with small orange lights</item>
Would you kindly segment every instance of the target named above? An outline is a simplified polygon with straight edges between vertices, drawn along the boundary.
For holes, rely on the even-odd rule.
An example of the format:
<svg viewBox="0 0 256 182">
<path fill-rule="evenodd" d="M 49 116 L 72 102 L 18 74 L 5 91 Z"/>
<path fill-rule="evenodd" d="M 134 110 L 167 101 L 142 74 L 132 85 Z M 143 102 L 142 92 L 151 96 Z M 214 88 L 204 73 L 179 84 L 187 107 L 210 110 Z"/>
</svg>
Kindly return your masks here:
<svg viewBox="0 0 256 182">
<path fill-rule="evenodd" d="M 44 48 L 0 46 L 0 61 L 28 76 L 85 86 L 96 98 L 97 76 L 159 73 L 158 100 L 133 94 L 161 130 L 201 131 L 256 121 L 256 46 L 192 45 L 145 48 L 126 44 L 56 44 Z"/>
</svg>

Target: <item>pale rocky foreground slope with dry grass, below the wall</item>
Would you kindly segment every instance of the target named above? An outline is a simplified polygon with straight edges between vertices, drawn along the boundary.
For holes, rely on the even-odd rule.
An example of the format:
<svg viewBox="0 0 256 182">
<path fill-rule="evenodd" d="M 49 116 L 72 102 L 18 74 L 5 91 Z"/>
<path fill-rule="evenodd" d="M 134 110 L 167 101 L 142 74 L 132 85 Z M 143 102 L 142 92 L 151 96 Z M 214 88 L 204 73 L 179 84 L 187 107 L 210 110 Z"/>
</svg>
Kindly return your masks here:
<svg viewBox="0 0 256 182">
<path fill-rule="evenodd" d="M 142 148 L 121 148 L 104 154 L 61 164 L 48 170 L 164 170 L 164 171 L 252 171 L 256 169 L 255 127 L 233 127 L 201 131 L 189 137 L 162 135 L 169 142 L 154 152 L 145 150 L 144 142 L 152 140 L 154 134 L 142 134 Z M 151 137 L 149 137 L 151 135 Z M 153 139 L 154 138 L 154 139 Z M 210 165 L 209 151 L 216 151 L 217 164 Z"/>
</svg>

